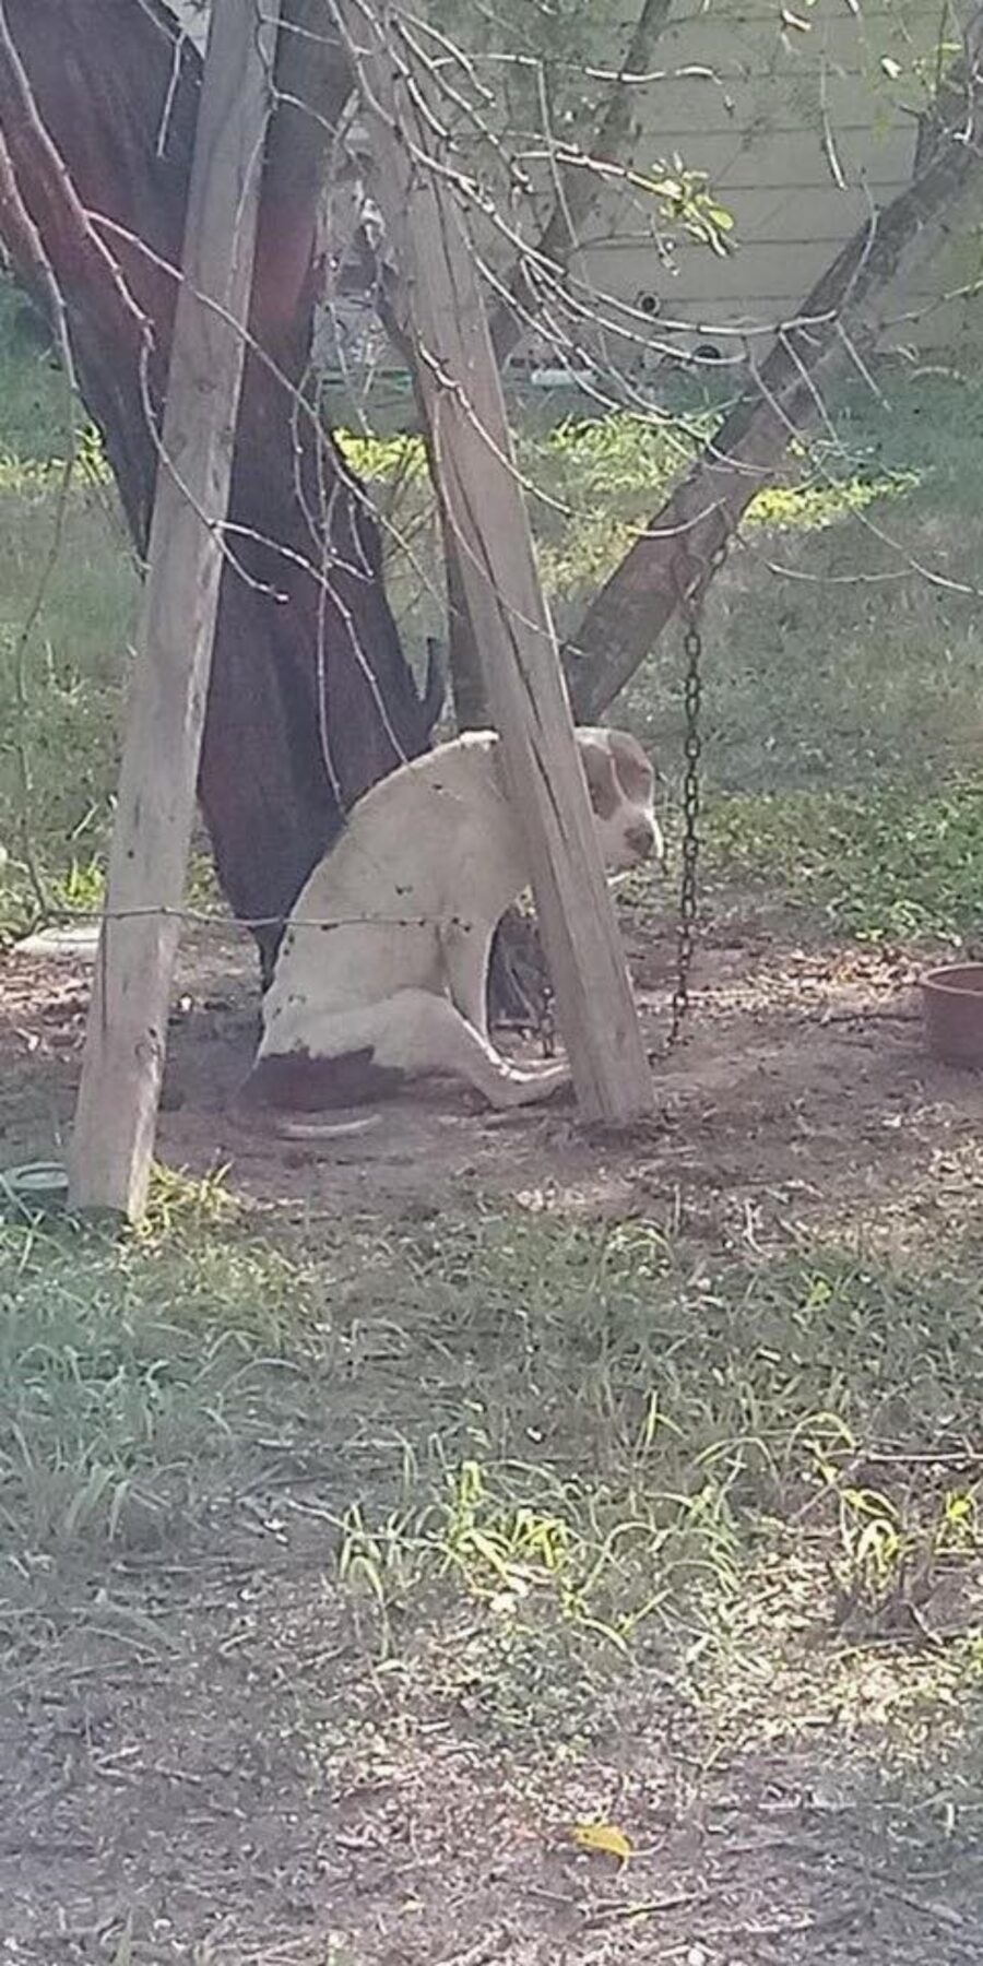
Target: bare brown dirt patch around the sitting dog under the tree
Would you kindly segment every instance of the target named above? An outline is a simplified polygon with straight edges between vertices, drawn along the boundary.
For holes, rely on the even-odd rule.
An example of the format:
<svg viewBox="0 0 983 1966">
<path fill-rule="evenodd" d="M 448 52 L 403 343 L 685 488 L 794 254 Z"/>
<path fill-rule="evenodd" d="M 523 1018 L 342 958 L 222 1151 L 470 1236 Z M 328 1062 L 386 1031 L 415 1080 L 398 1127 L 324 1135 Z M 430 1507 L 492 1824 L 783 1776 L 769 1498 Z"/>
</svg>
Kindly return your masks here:
<svg viewBox="0 0 983 1966">
<path fill-rule="evenodd" d="M 653 1052 L 665 1044 L 672 942 L 635 934 Z M 700 952 L 686 1042 L 655 1058 L 659 1113 L 629 1144 L 584 1140 L 562 1111 L 490 1117 L 458 1087 L 395 1101 L 336 1144 L 285 1144 L 230 1119 L 256 1038 L 242 948 L 185 950 L 159 1132 L 161 1158 L 230 1170 L 256 1197 L 328 1213 L 440 1205 L 460 1184 L 619 1215 L 682 1211 L 688 1227 L 755 1239 L 794 1217 L 904 1241 L 940 1227 L 983 1178 L 983 1077 L 934 1064 L 902 954 L 790 948 L 729 918 Z M 79 1075 L 88 975 L 10 955 L 0 969 L 4 1162 L 59 1152 Z M 926 1221 L 928 1219 L 928 1221 Z"/>
</svg>

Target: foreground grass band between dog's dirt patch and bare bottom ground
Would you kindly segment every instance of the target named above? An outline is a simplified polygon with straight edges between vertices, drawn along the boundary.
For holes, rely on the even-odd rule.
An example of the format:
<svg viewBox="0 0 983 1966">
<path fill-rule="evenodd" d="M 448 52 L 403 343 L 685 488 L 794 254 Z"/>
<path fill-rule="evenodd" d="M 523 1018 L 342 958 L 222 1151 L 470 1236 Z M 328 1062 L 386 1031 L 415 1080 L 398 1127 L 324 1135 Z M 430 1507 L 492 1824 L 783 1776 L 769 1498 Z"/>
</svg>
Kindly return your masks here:
<svg viewBox="0 0 983 1966">
<path fill-rule="evenodd" d="M 737 1697 L 761 1716 L 769 1665 L 794 1734 L 802 1675 L 812 1710 L 843 1699 L 838 1634 L 887 1640 L 940 1573 L 969 1590 L 973 1248 L 916 1272 L 841 1246 L 747 1262 L 519 1209 L 285 1243 L 222 1195 L 171 1180 L 130 1244 L 0 1231 L 22 1640 L 79 1571 L 228 1543 L 250 1496 L 269 1516 L 297 1490 L 370 1651 L 413 1651 L 440 1606 L 448 1693 L 560 1752 L 607 1724 L 604 1685 L 653 1667 L 727 1728 Z M 808 1663 L 796 1602 L 826 1626 Z M 959 1620 L 916 1673 L 942 1720 L 983 1689 Z"/>
</svg>

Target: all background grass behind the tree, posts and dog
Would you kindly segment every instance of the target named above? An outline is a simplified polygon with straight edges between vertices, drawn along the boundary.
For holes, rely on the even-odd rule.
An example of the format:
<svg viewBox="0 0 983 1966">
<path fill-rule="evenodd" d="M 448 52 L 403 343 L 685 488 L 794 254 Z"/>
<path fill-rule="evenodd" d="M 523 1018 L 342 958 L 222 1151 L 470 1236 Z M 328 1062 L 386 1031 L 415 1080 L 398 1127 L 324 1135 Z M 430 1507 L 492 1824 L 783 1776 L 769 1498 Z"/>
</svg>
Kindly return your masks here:
<svg viewBox="0 0 983 1966">
<path fill-rule="evenodd" d="M 4 315 L 6 309 L 6 315 Z M 85 431 L 69 452 L 59 377 L 0 307 L 0 934 L 98 904 L 118 759 L 120 684 L 138 582 Z M 975 568 L 983 385 L 885 379 L 841 393 L 832 433 L 755 501 L 704 623 L 708 873 L 775 875 L 784 898 L 867 936 L 975 932 L 983 739 Z M 584 419 L 533 407 L 519 433 L 543 570 L 564 631 L 645 525 L 718 411 Z M 433 509 L 413 436 L 346 448 L 389 523 L 407 647 L 440 633 Z M 28 645 L 43 558 L 63 525 Z M 409 539 L 409 558 L 401 541 Z M 680 655 L 657 653 L 619 714 L 659 753 L 676 798 Z M 912 731 L 918 741 L 912 741 Z"/>
</svg>

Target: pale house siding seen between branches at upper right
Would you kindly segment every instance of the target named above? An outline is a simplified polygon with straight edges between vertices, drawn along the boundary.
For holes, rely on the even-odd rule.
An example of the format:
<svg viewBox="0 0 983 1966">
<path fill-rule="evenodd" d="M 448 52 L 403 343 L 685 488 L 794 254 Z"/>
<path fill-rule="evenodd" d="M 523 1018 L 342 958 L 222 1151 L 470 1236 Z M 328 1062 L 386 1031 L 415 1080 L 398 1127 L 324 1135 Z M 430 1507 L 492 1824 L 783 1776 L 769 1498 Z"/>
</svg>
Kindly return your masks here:
<svg viewBox="0 0 983 1966">
<path fill-rule="evenodd" d="M 786 26 L 790 14 L 802 28 Z M 779 6 L 682 0 L 639 90 L 647 136 L 639 163 L 680 157 L 706 171 L 733 218 L 735 250 L 718 258 L 680 244 L 665 263 L 655 208 L 621 191 L 590 228 L 578 271 L 588 285 L 637 305 L 655 297 L 682 346 L 733 346 L 723 330 L 763 330 L 794 317 L 802 297 L 851 232 L 910 181 L 918 110 L 928 100 L 942 10 L 916 4 Z M 928 61 L 926 61 L 928 57 Z M 895 75 L 893 65 L 900 69 Z M 887 65 L 887 67 L 885 67 Z M 712 75 L 692 75 L 692 69 Z M 963 230 L 965 242 L 965 230 Z M 922 256 L 883 307 L 887 344 L 940 344 L 971 332 L 975 303 L 940 307 L 948 279 L 971 277 L 973 252 Z M 924 318 L 898 318 L 900 315 Z M 611 344 L 613 352 L 613 344 Z"/>
</svg>

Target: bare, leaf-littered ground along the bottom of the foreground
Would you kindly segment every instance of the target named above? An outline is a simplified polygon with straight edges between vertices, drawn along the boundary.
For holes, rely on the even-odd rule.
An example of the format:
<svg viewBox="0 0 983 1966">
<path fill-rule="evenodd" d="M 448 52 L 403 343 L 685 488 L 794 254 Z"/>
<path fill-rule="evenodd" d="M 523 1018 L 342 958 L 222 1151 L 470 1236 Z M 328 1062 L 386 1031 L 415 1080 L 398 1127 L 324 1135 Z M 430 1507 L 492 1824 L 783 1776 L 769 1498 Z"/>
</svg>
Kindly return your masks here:
<svg viewBox="0 0 983 1966">
<path fill-rule="evenodd" d="M 4 1728 L 6 1956 L 122 1958 L 132 1919 L 134 1958 L 222 1966 L 979 1958 L 973 1828 L 898 1805 L 875 1754 L 845 1767 L 836 1728 L 706 1767 L 696 1718 L 635 1687 L 556 1771 L 446 1665 L 431 1695 L 419 1657 L 370 1673 L 332 1596 L 285 1549 L 189 1567 L 155 1634 L 120 1616 L 85 1677 L 79 1634 L 49 1659 Z M 598 1813 L 631 1828 L 625 1870 L 570 1844 Z"/>
</svg>

